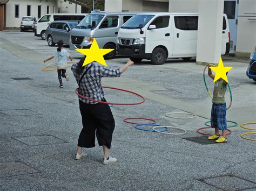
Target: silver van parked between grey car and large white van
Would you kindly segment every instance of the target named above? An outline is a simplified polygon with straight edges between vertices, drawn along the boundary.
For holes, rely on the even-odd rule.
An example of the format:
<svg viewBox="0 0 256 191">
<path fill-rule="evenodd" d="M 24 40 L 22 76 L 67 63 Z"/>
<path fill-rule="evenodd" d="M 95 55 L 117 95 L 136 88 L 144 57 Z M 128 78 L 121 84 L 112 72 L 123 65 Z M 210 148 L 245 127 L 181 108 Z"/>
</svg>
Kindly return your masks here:
<svg viewBox="0 0 256 191">
<path fill-rule="evenodd" d="M 120 27 L 138 12 L 99 12 L 87 15 L 71 31 L 70 49 L 88 48 L 94 38 L 97 39 L 99 48 L 116 49 L 117 34 Z M 113 59 L 116 51 L 104 56 Z"/>
</svg>

